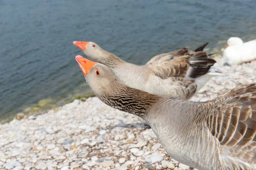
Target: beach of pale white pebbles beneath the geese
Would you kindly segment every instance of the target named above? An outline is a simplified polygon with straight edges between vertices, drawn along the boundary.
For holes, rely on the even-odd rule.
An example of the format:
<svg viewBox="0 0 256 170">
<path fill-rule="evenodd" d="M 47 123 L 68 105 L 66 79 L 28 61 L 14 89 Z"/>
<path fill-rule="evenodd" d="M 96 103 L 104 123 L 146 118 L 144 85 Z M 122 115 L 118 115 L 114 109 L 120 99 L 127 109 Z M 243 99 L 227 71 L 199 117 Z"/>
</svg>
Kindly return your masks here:
<svg viewBox="0 0 256 170">
<path fill-rule="evenodd" d="M 238 85 L 256 82 L 256 62 L 218 69 L 228 75 L 213 77 L 191 101 L 207 101 Z M 0 125 L 0 169 L 193 168 L 169 157 L 145 121 L 90 97 Z"/>
</svg>

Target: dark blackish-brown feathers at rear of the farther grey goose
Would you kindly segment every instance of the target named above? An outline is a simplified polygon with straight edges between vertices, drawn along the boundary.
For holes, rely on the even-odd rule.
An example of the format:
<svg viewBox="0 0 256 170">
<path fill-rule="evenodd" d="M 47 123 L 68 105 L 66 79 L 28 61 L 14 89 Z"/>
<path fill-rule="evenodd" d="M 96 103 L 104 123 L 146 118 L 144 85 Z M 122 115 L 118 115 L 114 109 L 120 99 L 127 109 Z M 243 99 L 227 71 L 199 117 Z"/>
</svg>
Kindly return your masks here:
<svg viewBox="0 0 256 170">
<path fill-rule="evenodd" d="M 195 79 L 204 74 L 207 74 L 212 65 L 216 61 L 209 58 L 206 52 L 198 51 L 193 54 L 189 61 L 189 69 L 186 72 L 187 79 Z"/>
</svg>

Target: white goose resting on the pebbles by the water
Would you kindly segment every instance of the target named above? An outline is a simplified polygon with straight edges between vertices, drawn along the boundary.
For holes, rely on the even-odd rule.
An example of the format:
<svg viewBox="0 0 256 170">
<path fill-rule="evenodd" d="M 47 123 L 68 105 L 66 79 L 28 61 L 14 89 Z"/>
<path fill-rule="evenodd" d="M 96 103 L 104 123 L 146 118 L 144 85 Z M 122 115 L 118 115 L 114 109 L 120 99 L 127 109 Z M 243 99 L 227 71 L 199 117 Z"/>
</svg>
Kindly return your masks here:
<svg viewBox="0 0 256 170">
<path fill-rule="evenodd" d="M 223 51 L 224 61 L 228 65 L 238 65 L 256 60 L 256 40 L 243 42 L 239 37 L 230 37 Z"/>
</svg>

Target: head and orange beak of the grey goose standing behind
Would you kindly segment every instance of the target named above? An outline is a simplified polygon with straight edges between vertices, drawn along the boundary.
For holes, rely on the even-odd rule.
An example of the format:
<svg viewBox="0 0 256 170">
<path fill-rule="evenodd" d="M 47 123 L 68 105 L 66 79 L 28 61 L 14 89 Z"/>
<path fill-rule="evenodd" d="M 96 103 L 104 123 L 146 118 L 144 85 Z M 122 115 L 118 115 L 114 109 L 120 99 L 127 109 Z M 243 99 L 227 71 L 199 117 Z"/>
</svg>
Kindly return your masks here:
<svg viewBox="0 0 256 170">
<path fill-rule="evenodd" d="M 100 62 L 107 52 L 95 42 L 74 41 L 73 44 L 80 48 L 85 55 L 87 55 L 96 62 Z"/>
</svg>

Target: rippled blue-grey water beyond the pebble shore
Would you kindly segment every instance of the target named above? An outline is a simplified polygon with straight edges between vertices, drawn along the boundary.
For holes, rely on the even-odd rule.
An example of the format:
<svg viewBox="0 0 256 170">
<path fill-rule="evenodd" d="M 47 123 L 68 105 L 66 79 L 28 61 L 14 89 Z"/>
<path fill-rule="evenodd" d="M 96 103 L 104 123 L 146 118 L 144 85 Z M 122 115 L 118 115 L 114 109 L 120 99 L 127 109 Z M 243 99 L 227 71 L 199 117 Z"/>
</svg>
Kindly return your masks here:
<svg viewBox="0 0 256 170">
<path fill-rule="evenodd" d="M 54 107 L 90 92 L 74 40 L 144 64 L 185 46 L 256 38 L 255 8 L 255 0 L 0 0 L 0 118 L 41 99 Z"/>
</svg>

